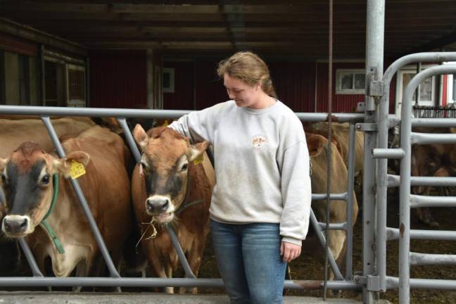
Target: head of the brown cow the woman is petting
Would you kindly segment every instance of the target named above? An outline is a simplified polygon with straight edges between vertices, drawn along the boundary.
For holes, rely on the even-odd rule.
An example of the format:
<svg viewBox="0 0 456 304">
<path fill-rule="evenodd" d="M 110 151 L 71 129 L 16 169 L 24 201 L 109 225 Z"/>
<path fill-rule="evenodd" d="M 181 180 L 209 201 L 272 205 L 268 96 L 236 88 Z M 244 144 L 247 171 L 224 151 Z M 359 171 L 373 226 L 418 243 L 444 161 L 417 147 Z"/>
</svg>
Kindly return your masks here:
<svg viewBox="0 0 456 304">
<path fill-rule="evenodd" d="M 188 192 L 191 161 L 201 156 L 208 142 L 191 145 L 168 127 L 146 133 L 136 125 L 133 136 L 142 151 L 139 174 L 146 186 L 146 213 L 160 223 L 170 222 Z"/>
</svg>

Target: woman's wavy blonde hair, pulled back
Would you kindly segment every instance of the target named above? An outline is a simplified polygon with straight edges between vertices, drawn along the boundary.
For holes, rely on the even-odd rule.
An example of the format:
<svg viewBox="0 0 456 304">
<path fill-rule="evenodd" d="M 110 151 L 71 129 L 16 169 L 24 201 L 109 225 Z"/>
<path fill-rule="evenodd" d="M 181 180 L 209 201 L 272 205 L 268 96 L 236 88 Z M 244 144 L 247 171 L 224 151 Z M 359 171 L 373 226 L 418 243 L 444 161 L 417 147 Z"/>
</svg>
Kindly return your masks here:
<svg viewBox="0 0 456 304">
<path fill-rule="evenodd" d="M 261 89 L 269 96 L 277 98 L 272 85 L 269 68 L 265 61 L 250 51 L 240 51 L 233 56 L 220 61 L 217 68 L 217 75 L 224 77 L 227 74 L 246 84 L 254 86 L 260 84 Z"/>
</svg>

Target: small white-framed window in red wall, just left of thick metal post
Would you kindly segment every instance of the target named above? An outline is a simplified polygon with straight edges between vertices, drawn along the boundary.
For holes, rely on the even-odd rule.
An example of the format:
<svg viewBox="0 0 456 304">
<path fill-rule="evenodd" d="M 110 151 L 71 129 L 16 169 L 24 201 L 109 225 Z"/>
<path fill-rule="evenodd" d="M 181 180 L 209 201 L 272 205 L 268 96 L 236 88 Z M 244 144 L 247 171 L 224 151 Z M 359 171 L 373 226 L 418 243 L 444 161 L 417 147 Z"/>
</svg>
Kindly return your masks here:
<svg viewBox="0 0 456 304">
<path fill-rule="evenodd" d="M 336 70 L 336 94 L 365 94 L 364 70 Z"/>
</svg>

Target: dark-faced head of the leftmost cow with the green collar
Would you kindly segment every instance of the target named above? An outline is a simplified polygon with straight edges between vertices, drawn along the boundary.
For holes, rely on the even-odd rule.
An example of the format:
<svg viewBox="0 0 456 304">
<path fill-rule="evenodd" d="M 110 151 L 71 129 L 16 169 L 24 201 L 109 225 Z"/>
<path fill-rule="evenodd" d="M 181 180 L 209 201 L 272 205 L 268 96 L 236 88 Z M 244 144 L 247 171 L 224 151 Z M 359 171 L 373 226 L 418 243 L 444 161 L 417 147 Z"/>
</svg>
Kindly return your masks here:
<svg viewBox="0 0 456 304">
<path fill-rule="evenodd" d="M 51 205 L 53 175 L 68 177 L 72 160 L 87 164 L 89 155 L 75 151 L 64 159 L 55 158 L 39 144 L 25 142 L 9 158 L 0 158 L 1 187 L 6 201 L 1 229 L 6 236 L 21 237 L 34 232 Z"/>
</svg>

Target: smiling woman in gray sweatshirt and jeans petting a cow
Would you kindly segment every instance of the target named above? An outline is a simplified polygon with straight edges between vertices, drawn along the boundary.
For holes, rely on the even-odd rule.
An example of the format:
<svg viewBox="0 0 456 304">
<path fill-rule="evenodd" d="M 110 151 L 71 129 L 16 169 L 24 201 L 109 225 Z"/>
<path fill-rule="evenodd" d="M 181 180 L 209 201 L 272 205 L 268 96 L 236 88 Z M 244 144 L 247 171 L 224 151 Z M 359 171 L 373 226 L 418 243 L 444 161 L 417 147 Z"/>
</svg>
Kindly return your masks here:
<svg viewBox="0 0 456 304">
<path fill-rule="evenodd" d="M 251 52 L 220 62 L 230 101 L 170 127 L 214 147 L 210 227 L 231 303 L 283 303 L 286 263 L 298 258 L 310 214 L 303 126 L 276 99 L 270 72 Z"/>
</svg>

